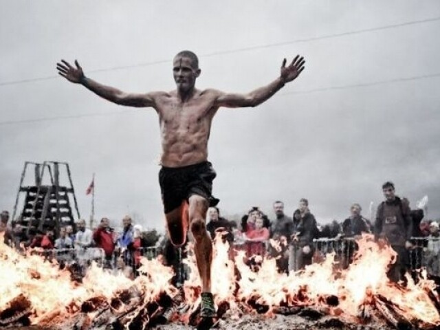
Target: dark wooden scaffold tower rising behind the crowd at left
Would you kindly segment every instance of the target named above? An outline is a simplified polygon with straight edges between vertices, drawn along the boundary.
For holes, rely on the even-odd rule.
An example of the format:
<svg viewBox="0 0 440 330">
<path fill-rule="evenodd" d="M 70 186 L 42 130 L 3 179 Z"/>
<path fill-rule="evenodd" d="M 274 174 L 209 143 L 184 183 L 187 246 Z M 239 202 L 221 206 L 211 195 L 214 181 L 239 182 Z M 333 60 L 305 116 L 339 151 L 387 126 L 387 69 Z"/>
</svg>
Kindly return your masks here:
<svg viewBox="0 0 440 330">
<path fill-rule="evenodd" d="M 29 172 L 28 168 L 32 166 L 34 166 L 34 185 L 23 186 Z M 67 174 L 67 186 L 60 185 L 61 170 L 65 170 Z M 49 182 L 47 182 L 47 175 Z M 61 225 L 74 225 L 71 198 L 74 201 L 77 219 L 80 219 L 69 164 L 65 162 L 43 162 L 43 164 L 25 162 L 12 219 L 16 219 L 19 202 L 23 200 L 23 208 L 16 221 L 27 228 L 28 234 L 30 228 L 54 229 L 59 232 Z"/>
</svg>

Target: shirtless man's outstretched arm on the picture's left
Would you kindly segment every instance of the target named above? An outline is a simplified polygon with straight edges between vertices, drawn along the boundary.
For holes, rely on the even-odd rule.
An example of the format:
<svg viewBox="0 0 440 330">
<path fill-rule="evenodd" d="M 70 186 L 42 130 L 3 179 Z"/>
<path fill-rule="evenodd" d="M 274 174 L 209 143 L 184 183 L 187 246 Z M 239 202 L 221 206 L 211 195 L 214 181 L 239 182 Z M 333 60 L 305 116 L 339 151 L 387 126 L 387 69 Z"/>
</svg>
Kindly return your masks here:
<svg viewBox="0 0 440 330">
<path fill-rule="evenodd" d="M 125 93 L 119 89 L 102 85 L 87 78 L 83 72 L 83 68 L 78 64 L 78 61 L 75 61 L 75 65 L 76 67 L 70 65 L 67 61 L 61 60 L 61 63 L 56 63 L 56 69 L 58 69 L 60 76 L 66 78 L 71 83 L 81 84 L 90 91 L 93 91 L 96 95 L 110 102 L 129 107 L 154 107 L 153 94 Z"/>
</svg>

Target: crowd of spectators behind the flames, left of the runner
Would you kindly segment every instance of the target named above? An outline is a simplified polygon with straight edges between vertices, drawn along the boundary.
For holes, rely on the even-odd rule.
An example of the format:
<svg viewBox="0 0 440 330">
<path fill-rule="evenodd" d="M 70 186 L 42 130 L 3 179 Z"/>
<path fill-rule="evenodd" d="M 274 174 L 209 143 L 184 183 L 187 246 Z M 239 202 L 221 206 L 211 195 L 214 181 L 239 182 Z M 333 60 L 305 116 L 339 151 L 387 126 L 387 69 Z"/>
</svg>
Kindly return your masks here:
<svg viewBox="0 0 440 330">
<path fill-rule="evenodd" d="M 0 233 L 3 232 L 5 244 L 19 251 L 31 249 L 42 256 L 54 257 L 63 267 L 67 263 L 78 265 L 80 272 L 96 260 L 102 261 L 103 267 L 134 276 L 144 254 L 142 249 L 152 245 L 143 238 L 142 226 L 133 225 L 129 216 L 122 219 L 120 232 L 111 228 L 107 217 L 102 218 L 94 230 L 86 227 L 84 219 L 79 219 L 74 225 L 61 225 L 58 232 L 56 228 L 27 228 L 14 221 L 9 226 L 8 211 L 1 212 L 0 218 Z"/>
</svg>

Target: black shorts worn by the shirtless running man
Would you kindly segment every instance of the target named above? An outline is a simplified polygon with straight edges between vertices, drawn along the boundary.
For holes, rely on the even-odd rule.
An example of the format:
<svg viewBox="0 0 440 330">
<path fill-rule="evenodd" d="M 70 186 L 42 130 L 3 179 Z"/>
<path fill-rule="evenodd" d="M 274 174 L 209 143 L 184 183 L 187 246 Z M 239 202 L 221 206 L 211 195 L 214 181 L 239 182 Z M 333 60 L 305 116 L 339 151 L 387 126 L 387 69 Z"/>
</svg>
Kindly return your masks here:
<svg viewBox="0 0 440 330">
<path fill-rule="evenodd" d="M 216 206 L 219 199 L 212 197 L 212 180 L 217 176 L 210 162 L 183 166 L 164 167 L 159 170 L 160 192 L 165 213 L 181 206 L 191 195 L 208 199 L 210 206 Z"/>
</svg>

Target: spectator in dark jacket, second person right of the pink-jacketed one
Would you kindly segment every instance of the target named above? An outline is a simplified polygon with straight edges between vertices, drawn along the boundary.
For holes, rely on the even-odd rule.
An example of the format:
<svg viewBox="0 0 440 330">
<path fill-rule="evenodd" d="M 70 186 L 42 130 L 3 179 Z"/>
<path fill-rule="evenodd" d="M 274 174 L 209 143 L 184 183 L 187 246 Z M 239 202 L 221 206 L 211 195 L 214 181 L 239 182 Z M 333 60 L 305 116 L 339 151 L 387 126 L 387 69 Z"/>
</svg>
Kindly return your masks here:
<svg viewBox="0 0 440 330">
<path fill-rule="evenodd" d="M 292 235 L 291 248 L 289 248 L 289 272 L 302 270 L 306 265 L 311 264 L 314 254 L 313 240 L 318 237 L 316 219 L 309 210 L 307 199 L 300 199 L 300 205 L 298 210 L 294 212 L 294 218 L 299 221 L 296 224 L 296 232 Z"/>
</svg>

